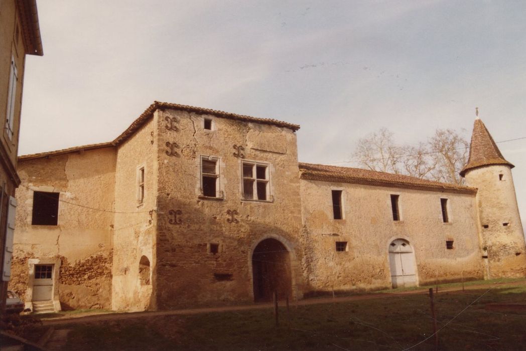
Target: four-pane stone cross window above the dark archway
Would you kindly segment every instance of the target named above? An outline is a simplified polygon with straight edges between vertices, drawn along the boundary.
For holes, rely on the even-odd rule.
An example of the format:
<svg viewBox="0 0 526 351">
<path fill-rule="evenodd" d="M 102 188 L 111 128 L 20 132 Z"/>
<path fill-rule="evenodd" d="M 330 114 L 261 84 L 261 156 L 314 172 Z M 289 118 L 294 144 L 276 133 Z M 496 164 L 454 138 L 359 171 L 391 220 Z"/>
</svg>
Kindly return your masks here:
<svg viewBox="0 0 526 351">
<path fill-rule="evenodd" d="M 269 200 L 268 164 L 243 162 L 243 198 L 246 200 Z"/>
</svg>

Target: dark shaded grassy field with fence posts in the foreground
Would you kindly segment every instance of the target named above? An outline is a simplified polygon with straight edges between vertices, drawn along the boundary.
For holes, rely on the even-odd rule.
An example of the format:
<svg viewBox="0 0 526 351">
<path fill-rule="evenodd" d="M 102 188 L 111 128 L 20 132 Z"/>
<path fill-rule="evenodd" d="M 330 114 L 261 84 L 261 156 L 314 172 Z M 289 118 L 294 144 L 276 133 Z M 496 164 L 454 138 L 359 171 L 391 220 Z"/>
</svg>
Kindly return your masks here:
<svg viewBox="0 0 526 351">
<path fill-rule="evenodd" d="M 526 350 L 526 285 L 435 296 L 442 350 Z M 499 307 L 498 307 L 499 308 Z M 526 307 L 525 307 L 526 308 Z M 433 350 L 426 294 L 271 309 L 75 324 L 67 350 Z M 420 344 L 419 344 L 420 343 Z"/>
</svg>

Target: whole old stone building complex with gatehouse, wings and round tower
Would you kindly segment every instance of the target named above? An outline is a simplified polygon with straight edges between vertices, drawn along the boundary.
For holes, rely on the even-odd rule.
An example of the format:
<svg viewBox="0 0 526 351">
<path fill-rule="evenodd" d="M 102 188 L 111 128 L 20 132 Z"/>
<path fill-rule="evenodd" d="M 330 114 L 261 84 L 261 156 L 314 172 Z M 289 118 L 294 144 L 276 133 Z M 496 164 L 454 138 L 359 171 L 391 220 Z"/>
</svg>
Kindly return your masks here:
<svg viewBox="0 0 526 351">
<path fill-rule="evenodd" d="M 298 129 L 154 102 L 112 142 L 20 157 L 12 289 L 140 311 L 526 275 L 513 166 L 480 120 L 468 187 L 299 163 Z"/>
</svg>

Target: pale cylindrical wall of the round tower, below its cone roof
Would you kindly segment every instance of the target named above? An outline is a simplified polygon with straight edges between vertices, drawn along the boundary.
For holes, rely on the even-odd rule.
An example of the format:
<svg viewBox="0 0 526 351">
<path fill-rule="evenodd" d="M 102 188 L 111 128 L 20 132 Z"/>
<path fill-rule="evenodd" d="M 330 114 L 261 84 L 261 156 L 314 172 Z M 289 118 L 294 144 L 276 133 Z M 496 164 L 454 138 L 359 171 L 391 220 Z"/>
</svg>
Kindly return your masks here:
<svg viewBox="0 0 526 351">
<path fill-rule="evenodd" d="M 488 276 L 526 276 L 526 245 L 511 169 L 502 165 L 472 169 L 466 173 L 466 182 L 479 189 L 479 228 L 481 246 L 488 256 Z"/>
</svg>

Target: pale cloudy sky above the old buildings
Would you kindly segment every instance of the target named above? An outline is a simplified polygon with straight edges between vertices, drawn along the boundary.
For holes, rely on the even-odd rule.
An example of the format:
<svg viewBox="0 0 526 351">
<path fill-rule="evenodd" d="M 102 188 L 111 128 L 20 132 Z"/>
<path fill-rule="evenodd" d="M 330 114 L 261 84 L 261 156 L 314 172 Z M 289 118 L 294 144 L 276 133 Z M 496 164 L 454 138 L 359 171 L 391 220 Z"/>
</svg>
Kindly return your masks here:
<svg viewBox="0 0 526 351">
<path fill-rule="evenodd" d="M 19 154 L 113 140 L 157 100 L 297 123 L 300 161 L 357 167 L 356 142 L 382 127 L 400 143 L 437 128 L 469 140 L 478 107 L 526 223 L 522 0 L 37 6 Z"/>
</svg>

